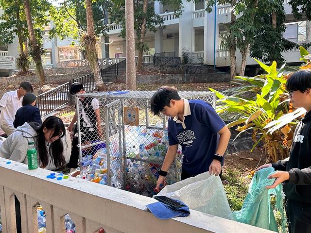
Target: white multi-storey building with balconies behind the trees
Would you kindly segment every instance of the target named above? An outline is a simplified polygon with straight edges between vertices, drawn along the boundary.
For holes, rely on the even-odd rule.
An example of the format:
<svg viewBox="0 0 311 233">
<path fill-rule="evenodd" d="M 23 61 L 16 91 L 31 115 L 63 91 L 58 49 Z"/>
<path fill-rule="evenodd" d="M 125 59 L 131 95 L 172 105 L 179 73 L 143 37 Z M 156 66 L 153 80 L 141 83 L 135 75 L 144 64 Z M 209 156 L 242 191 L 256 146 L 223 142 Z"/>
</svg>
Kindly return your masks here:
<svg viewBox="0 0 311 233">
<path fill-rule="evenodd" d="M 164 20 L 165 29 L 158 29 L 156 33 L 147 32 L 145 42 L 150 48 L 149 54 L 159 52 L 175 51 L 176 56 L 181 56 L 183 51 L 187 51 L 192 56 L 193 63 L 203 63 L 207 65 L 216 65 L 216 67 L 229 67 L 230 58 L 228 51 L 219 50 L 221 38 L 219 33 L 224 29 L 221 23 L 229 22 L 231 14 L 230 5 L 219 5 L 216 8 L 216 14 L 213 10 L 207 13 L 205 9 L 205 0 L 198 3 L 183 1 L 184 11 L 181 17 L 174 17 L 174 13 L 169 6 L 163 6 L 155 1 L 155 13 L 159 14 Z M 293 17 L 292 9 L 287 0 L 284 1 L 286 12 L 287 30 L 284 37 L 297 43 L 308 43 L 311 41 L 311 22 L 304 18 L 296 20 Z M 309 30 L 307 29 L 309 26 Z M 309 33 L 308 33 L 309 31 Z M 125 56 L 125 40 L 118 35 L 121 32 L 121 25 L 111 24 L 108 36 L 101 37 L 99 58 L 115 58 Z M 82 59 L 82 54 L 77 46 L 71 46 L 72 39 L 60 40 L 54 38 L 48 39 L 48 33 L 44 35 L 44 48 L 47 54 L 43 57 L 43 64 L 46 66 L 55 65 L 58 62 Z M 78 41 L 75 41 L 77 44 Z M 6 50 L 8 56 L 18 57 L 17 38 L 13 44 L 7 47 L 1 47 Z M 138 54 L 138 53 L 137 53 Z M 298 63 L 300 59 L 299 50 L 284 52 L 287 63 Z M 241 54 L 237 51 L 237 67 L 241 63 Z M 256 62 L 250 57 L 247 59 L 247 65 L 255 65 Z"/>
</svg>

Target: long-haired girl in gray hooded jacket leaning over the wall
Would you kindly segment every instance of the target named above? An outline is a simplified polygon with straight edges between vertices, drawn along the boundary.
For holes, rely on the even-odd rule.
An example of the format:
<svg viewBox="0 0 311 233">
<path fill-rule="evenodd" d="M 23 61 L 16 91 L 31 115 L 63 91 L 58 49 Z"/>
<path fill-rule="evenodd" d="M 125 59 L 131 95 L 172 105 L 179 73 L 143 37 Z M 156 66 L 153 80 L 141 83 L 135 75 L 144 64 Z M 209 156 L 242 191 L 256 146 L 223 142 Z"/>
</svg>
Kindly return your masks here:
<svg viewBox="0 0 311 233">
<path fill-rule="evenodd" d="M 56 116 L 49 116 L 42 124 L 25 123 L 3 141 L 0 157 L 27 164 L 28 142 L 35 141 L 41 168 L 62 167 L 66 165 L 63 151 L 67 145 L 63 143 L 66 140 L 62 140 L 65 134 L 64 123 Z"/>
</svg>

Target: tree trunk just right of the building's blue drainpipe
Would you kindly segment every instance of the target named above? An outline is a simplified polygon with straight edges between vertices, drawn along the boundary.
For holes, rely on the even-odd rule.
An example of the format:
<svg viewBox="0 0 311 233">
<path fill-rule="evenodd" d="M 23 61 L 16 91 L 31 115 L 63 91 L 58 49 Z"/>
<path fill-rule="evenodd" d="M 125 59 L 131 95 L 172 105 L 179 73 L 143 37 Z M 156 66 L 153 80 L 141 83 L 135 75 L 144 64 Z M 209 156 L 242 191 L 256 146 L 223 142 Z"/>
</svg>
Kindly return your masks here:
<svg viewBox="0 0 311 233">
<path fill-rule="evenodd" d="M 234 6 L 236 3 L 236 0 L 231 1 L 231 5 Z M 234 14 L 234 11 L 231 11 L 231 22 L 230 24 L 234 24 L 236 20 L 236 15 Z M 237 74 L 237 58 L 236 58 L 236 50 L 237 50 L 237 42 L 234 36 L 231 35 L 231 32 L 229 34 L 229 55 L 230 55 L 230 77 L 231 80 L 236 76 Z"/>
</svg>

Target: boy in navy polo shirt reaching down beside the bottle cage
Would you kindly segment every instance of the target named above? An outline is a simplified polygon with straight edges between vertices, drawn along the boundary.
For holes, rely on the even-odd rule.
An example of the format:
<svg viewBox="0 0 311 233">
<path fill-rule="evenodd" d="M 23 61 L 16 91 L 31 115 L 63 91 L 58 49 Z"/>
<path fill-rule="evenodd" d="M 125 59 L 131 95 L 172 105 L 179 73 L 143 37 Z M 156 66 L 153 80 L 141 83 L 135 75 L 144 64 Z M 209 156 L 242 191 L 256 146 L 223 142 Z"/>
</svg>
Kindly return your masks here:
<svg viewBox="0 0 311 233">
<path fill-rule="evenodd" d="M 214 108 L 202 100 L 181 99 L 173 87 L 161 87 L 151 99 L 151 111 L 170 116 L 168 122 L 169 149 L 166 153 L 158 190 L 172 165 L 178 144 L 184 154 L 181 180 L 209 171 L 218 176 L 224 163 L 230 131 Z"/>
</svg>

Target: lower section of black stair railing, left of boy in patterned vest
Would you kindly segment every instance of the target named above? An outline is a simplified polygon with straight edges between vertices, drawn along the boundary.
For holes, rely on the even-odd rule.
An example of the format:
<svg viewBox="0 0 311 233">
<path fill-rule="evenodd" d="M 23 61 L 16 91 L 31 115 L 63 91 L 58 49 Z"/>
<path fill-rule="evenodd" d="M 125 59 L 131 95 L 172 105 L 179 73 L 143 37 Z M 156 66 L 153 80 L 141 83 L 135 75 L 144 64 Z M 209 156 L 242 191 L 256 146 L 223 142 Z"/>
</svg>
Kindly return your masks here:
<svg viewBox="0 0 311 233">
<path fill-rule="evenodd" d="M 36 106 L 40 109 L 41 117 L 71 102 L 70 85 L 69 81 L 36 97 Z"/>
</svg>

